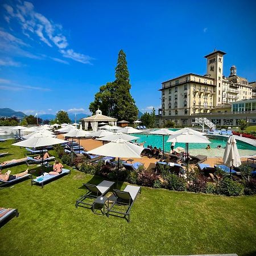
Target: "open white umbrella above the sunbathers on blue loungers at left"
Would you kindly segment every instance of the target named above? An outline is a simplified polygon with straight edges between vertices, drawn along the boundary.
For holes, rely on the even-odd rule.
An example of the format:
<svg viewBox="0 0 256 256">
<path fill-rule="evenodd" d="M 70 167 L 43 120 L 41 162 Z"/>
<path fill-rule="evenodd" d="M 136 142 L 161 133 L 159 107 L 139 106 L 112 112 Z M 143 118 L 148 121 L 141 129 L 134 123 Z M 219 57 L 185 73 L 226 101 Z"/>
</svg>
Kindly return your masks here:
<svg viewBox="0 0 256 256">
<path fill-rule="evenodd" d="M 40 134 L 37 134 L 37 135 L 38 137 L 26 139 L 25 141 L 16 142 L 13 144 L 13 146 L 40 148 L 41 158 L 42 158 L 42 171 L 43 171 L 43 147 L 65 143 L 65 141 L 63 141 L 63 139 L 44 137 Z"/>
</svg>

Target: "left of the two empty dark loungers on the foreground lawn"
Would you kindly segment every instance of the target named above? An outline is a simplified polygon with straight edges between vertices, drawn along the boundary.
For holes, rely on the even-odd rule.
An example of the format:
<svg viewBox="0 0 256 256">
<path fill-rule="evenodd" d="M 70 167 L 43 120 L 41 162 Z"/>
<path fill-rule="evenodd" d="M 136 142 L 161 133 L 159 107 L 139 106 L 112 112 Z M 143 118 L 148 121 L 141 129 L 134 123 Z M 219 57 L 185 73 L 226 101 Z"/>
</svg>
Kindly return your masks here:
<svg viewBox="0 0 256 256">
<path fill-rule="evenodd" d="M 92 207 L 94 204 L 94 200 L 97 199 L 98 196 L 106 195 L 106 193 L 109 192 L 110 188 L 112 188 L 114 184 L 115 183 L 113 181 L 108 181 L 108 180 L 101 181 L 101 183 L 98 185 L 84 183 L 84 186 L 87 189 L 87 192 L 85 193 L 84 196 L 81 196 L 78 200 L 76 200 L 76 208 L 79 206 L 86 208 L 86 205 L 89 205 Z M 85 201 L 86 199 L 94 199 L 94 200 L 93 202 L 89 200 Z"/>
</svg>

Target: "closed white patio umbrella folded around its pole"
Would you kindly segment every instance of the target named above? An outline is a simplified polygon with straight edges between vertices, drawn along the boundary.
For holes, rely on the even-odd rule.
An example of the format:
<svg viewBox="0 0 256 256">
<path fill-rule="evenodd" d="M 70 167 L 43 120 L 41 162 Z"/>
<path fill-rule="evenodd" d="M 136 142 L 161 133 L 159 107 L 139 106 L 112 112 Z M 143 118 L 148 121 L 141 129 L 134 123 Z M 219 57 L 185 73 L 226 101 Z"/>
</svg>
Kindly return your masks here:
<svg viewBox="0 0 256 256">
<path fill-rule="evenodd" d="M 241 166 L 241 159 L 237 149 L 237 142 L 233 135 L 230 135 L 226 142 L 226 148 L 223 155 L 223 162 L 229 167 L 230 174 L 232 172 L 232 166 Z"/>
</svg>

